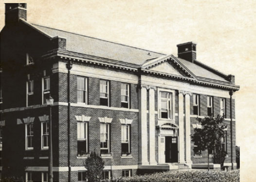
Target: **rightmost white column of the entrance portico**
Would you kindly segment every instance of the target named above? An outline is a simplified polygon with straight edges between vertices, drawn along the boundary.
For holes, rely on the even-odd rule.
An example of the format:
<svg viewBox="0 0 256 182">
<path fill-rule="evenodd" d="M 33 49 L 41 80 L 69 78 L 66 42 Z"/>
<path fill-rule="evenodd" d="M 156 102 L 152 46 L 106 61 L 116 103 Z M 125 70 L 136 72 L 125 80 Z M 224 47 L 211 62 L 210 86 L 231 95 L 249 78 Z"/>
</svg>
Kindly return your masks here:
<svg viewBox="0 0 256 182">
<path fill-rule="evenodd" d="M 186 163 L 191 164 L 191 137 L 190 137 L 190 94 L 185 95 L 185 133 L 186 133 Z"/>
</svg>

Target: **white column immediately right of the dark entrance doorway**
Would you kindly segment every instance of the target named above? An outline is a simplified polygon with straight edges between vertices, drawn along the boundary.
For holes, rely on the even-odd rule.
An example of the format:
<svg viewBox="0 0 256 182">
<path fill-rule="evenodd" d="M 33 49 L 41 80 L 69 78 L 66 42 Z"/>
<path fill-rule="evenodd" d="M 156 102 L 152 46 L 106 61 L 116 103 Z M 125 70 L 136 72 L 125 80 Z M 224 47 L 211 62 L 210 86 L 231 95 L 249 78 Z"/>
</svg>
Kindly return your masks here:
<svg viewBox="0 0 256 182">
<path fill-rule="evenodd" d="M 179 91 L 179 154 L 180 163 L 185 162 L 184 156 L 184 117 L 183 117 L 183 93 Z"/>
</svg>

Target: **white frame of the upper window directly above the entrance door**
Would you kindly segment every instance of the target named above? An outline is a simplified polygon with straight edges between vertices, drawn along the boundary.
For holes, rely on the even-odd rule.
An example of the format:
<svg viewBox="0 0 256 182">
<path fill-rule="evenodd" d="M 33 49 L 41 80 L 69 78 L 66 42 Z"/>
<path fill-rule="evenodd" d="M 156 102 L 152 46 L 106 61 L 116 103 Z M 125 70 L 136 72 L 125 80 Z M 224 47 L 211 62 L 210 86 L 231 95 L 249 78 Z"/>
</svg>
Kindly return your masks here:
<svg viewBox="0 0 256 182">
<path fill-rule="evenodd" d="M 171 117 L 169 117 L 169 114 L 168 114 L 168 117 L 167 118 L 161 118 L 161 92 L 168 92 L 168 93 L 172 93 L 172 106 L 169 106 L 168 109 L 171 109 Z M 170 98 L 169 98 L 170 99 Z M 169 113 L 169 111 L 168 111 Z M 175 91 L 173 90 L 168 90 L 168 89 L 158 89 L 158 119 L 159 120 L 168 120 L 168 121 L 175 121 Z"/>
</svg>

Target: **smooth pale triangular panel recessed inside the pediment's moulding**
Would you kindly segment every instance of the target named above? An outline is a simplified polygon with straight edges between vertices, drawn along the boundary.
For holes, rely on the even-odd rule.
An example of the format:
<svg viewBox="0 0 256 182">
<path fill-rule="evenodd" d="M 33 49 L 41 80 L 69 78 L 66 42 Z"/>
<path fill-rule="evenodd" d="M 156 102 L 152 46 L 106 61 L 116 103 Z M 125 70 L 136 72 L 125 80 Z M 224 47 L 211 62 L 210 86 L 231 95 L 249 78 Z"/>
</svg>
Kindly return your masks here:
<svg viewBox="0 0 256 182">
<path fill-rule="evenodd" d="M 167 74 L 172 74 L 172 75 L 178 75 L 178 76 L 183 76 L 177 69 L 175 69 L 169 61 L 165 61 L 161 64 L 158 64 L 149 70 L 152 71 L 157 71 L 157 72 L 162 72 L 162 73 L 167 73 Z"/>
</svg>

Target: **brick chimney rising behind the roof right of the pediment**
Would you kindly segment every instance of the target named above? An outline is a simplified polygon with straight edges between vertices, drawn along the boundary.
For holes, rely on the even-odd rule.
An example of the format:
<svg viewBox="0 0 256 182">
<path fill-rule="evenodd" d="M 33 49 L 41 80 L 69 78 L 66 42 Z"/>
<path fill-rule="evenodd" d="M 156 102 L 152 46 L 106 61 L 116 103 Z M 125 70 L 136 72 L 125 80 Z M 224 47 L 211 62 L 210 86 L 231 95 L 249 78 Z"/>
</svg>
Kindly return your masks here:
<svg viewBox="0 0 256 182">
<path fill-rule="evenodd" d="M 178 44 L 178 58 L 194 62 L 197 59 L 197 44 L 194 42 L 187 42 Z"/>
</svg>

